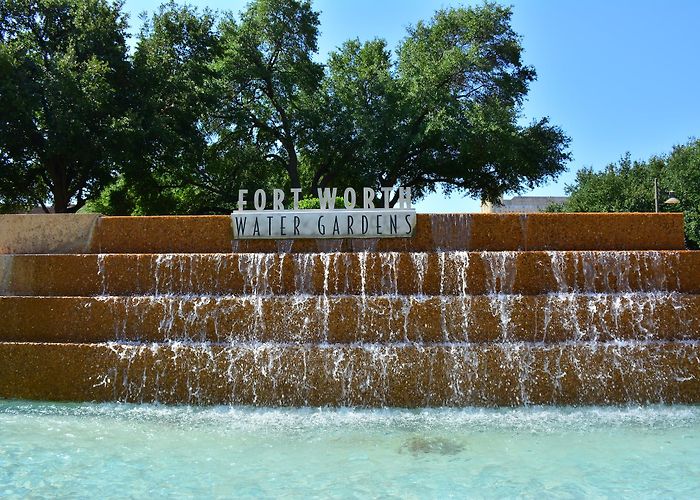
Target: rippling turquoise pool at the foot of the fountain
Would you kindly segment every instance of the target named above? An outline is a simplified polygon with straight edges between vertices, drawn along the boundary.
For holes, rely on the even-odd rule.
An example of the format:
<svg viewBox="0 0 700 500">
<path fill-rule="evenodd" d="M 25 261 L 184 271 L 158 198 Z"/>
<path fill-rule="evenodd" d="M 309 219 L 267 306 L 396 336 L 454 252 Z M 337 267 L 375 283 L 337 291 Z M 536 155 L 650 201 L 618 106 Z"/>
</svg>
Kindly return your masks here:
<svg viewBox="0 0 700 500">
<path fill-rule="evenodd" d="M 0 401 L 0 497 L 683 497 L 700 407 Z"/>
</svg>

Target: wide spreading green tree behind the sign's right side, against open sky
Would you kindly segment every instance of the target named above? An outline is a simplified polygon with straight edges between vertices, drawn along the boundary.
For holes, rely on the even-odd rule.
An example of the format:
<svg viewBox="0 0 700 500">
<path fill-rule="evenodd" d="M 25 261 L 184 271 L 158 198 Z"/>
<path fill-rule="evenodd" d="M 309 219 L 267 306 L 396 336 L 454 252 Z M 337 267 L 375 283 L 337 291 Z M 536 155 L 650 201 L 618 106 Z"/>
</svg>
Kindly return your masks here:
<svg viewBox="0 0 700 500">
<path fill-rule="evenodd" d="M 546 118 L 518 123 L 535 71 L 510 17 L 495 4 L 441 10 L 396 59 L 383 40 L 331 54 L 316 104 L 327 120 L 307 145 L 313 186 L 402 185 L 415 198 L 442 186 L 495 201 L 558 175 L 569 139 Z"/>
</svg>

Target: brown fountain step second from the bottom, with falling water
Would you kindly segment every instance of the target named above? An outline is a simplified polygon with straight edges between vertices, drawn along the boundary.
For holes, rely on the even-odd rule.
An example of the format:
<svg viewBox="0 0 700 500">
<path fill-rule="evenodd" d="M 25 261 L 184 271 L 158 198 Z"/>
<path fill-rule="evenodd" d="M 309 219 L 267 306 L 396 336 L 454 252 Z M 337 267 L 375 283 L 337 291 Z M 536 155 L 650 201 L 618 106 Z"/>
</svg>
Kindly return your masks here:
<svg viewBox="0 0 700 500">
<path fill-rule="evenodd" d="M 700 339 L 700 295 L 0 297 L 0 341 Z"/>
</svg>

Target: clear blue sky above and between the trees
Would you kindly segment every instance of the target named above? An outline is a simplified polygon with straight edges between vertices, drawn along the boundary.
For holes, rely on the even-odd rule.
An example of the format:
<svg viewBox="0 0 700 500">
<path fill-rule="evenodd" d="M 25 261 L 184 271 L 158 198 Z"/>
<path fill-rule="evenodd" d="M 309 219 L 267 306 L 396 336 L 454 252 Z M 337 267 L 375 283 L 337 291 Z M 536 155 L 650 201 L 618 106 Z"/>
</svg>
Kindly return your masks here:
<svg viewBox="0 0 700 500">
<path fill-rule="evenodd" d="M 138 14 L 160 1 L 126 0 L 134 29 Z M 189 2 L 240 11 L 246 1 Z M 441 7 L 479 4 L 428 0 L 317 0 L 319 61 L 348 38 L 384 38 L 395 46 L 406 27 Z M 521 0 L 513 28 L 524 60 L 538 78 L 524 118 L 549 116 L 572 138 L 573 161 L 557 181 L 525 195 L 563 195 L 580 167 L 603 168 L 625 152 L 646 159 L 700 137 L 700 2 L 653 0 Z M 454 195 L 428 197 L 424 212 L 478 211 L 479 202 Z"/>
</svg>

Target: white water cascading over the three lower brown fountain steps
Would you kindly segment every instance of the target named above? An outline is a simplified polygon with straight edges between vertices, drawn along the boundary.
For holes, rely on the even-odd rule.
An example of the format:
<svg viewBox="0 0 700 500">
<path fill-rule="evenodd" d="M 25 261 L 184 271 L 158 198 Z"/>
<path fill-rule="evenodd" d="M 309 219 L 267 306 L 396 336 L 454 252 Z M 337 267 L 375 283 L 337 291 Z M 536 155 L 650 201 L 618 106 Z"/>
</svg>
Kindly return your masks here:
<svg viewBox="0 0 700 500">
<path fill-rule="evenodd" d="M 516 292 L 522 255 L 141 256 L 152 294 L 95 298 L 119 360 L 100 383 L 130 401 L 412 406 L 571 402 L 570 379 L 585 400 L 638 400 L 631 377 L 664 399 L 654 381 L 693 376 L 662 369 L 679 355 L 663 341 L 692 352 L 699 331 L 694 297 L 669 289 L 677 253 L 542 253 L 541 294 Z"/>
</svg>

